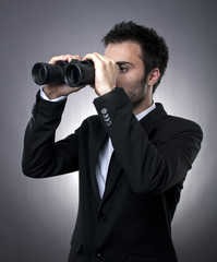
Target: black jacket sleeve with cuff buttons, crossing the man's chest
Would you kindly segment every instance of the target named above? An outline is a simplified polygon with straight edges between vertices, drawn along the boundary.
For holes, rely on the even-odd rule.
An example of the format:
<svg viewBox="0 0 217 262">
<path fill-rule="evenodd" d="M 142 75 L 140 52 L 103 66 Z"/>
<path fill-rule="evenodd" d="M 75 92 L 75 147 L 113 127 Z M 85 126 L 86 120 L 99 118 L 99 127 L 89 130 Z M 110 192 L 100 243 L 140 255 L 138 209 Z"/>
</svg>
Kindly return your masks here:
<svg viewBox="0 0 217 262">
<path fill-rule="evenodd" d="M 184 127 L 174 129 L 166 124 L 164 132 L 168 133 L 160 135 L 158 130 L 159 141 L 153 143 L 133 116 L 122 88 L 96 98 L 94 104 L 135 193 L 158 194 L 183 182 L 201 148 L 203 134 L 196 123 L 183 120 Z"/>
</svg>

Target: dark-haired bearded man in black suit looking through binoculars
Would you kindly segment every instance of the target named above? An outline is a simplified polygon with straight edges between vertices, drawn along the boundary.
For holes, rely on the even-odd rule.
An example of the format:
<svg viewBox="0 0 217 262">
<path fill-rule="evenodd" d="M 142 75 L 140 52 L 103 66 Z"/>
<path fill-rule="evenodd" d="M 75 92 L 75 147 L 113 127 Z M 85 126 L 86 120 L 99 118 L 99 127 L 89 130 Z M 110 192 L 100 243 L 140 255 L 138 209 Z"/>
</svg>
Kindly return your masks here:
<svg viewBox="0 0 217 262">
<path fill-rule="evenodd" d="M 44 86 L 25 133 L 23 171 L 35 178 L 80 171 L 69 262 L 176 262 L 171 221 L 202 131 L 153 102 L 168 62 L 162 37 L 122 22 L 103 40 L 105 56 L 83 58 L 95 64 L 98 116 L 55 143 L 65 97 L 82 87 Z M 71 59 L 82 58 L 50 63 Z"/>
</svg>

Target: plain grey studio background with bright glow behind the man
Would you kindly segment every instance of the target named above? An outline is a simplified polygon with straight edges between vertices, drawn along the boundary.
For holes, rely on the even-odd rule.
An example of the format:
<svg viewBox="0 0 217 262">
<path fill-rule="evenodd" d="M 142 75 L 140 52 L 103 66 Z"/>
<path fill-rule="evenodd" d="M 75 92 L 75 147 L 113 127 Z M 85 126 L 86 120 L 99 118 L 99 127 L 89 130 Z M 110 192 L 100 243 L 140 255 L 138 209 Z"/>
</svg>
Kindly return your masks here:
<svg viewBox="0 0 217 262">
<path fill-rule="evenodd" d="M 155 95 L 171 115 L 204 131 L 172 223 L 181 262 L 217 261 L 216 1 L 1 1 L 0 261 L 63 262 L 77 209 L 77 174 L 35 180 L 22 175 L 23 134 L 38 90 L 35 62 L 61 53 L 104 52 L 101 37 L 122 20 L 156 28 L 170 48 Z M 86 87 L 69 98 L 57 139 L 95 114 Z"/>
</svg>

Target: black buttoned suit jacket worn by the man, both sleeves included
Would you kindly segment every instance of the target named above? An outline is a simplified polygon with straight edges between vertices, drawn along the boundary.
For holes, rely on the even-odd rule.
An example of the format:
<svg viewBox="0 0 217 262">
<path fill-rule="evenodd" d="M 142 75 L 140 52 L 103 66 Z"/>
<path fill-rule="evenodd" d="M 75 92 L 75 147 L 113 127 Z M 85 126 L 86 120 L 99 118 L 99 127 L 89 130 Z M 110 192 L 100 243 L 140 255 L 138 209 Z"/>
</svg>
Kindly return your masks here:
<svg viewBox="0 0 217 262">
<path fill-rule="evenodd" d="M 69 262 L 176 262 L 171 221 L 201 128 L 157 104 L 140 122 L 122 88 L 94 100 L 98 116 L 55 143 L 65 102 L 37 95 L 24 140 L 23 171 L 45 178 L 80 170 L 80 204 Z M 114 154 L 103 200 L 95 166 L 110 136 Z"/>
</svg>

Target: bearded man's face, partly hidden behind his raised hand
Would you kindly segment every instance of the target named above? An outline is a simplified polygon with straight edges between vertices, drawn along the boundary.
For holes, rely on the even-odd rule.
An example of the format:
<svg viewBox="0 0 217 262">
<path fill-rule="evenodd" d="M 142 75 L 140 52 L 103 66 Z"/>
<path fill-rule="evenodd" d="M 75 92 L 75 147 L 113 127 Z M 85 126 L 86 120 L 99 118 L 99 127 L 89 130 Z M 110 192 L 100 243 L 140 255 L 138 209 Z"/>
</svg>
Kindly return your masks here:
<svg viewBox="0 0 217 262">
<path fill-rule="evenodd" d="M 146 87 L 142 50 L 134 41 L 109 44 L 105 56 L 119 66 L 117 87 L 123 87 L 133 105 L 145 99 Z"/>
</svg>

